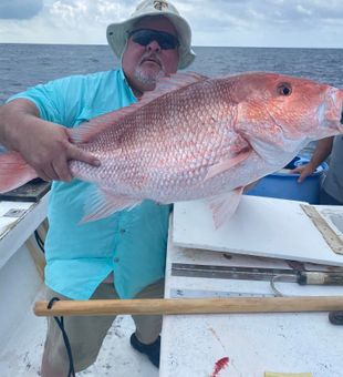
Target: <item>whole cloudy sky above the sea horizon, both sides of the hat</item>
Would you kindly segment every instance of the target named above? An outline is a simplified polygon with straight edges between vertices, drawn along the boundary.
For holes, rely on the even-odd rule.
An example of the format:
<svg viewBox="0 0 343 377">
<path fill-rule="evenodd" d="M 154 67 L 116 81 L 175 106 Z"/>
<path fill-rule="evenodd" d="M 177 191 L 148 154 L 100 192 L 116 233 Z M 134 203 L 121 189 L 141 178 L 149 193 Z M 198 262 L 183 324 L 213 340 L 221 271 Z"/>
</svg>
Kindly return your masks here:
<svg viewBox="0 0 343 377">
<path fill-rule="evenodd" d="M 194 45 L 343 48 L 343 0 L 173 1 Z M 0 0 L 0 43 L 105 44 L 133 0 Z"/>
</svg>

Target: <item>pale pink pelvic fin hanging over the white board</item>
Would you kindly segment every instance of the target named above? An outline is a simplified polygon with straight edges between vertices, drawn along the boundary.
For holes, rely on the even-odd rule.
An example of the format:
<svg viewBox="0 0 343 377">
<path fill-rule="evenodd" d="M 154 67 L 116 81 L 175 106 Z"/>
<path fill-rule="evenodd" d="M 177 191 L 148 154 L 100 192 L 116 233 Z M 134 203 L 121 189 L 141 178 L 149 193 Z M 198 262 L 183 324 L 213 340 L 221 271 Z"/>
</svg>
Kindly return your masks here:
<svg viewBox="0 0 343 377">
<path fill-rule="evenodd" d="M 229 193 L 208 198 L 216 230 L 231 218 L 238 207 L 242 192 L 243 187 L 238 187 Z"/>
</svg>

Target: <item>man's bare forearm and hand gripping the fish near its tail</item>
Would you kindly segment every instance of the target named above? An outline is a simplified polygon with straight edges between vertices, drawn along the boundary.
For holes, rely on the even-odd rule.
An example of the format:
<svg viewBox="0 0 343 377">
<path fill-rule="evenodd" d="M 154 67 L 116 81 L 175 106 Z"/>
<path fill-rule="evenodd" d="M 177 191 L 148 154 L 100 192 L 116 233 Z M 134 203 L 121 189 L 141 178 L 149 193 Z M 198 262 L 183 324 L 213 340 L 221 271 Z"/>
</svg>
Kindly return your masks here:
<svg viewBox="0 0 343 377">
<path fill-rule="evenodd" d="M 70 160 L 100 162 L 69 140 L 67 130 L 39 116 L 37 105 L 15 99 L 0 108 L 0 143 L 19 152 L 45 181 L 70 181 Z"/>
</svg>

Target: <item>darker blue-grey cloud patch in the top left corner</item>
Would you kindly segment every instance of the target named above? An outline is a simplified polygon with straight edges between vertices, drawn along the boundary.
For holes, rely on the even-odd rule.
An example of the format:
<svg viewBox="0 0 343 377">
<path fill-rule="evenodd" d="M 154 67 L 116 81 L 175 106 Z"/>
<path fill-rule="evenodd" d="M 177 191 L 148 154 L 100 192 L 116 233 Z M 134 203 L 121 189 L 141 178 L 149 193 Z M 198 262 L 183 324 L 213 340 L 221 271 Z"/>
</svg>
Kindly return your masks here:
<svg viewBox="0 0 343 377">
<path fill-rule="evenodd" d="M 31 19 L 42 9 L 43 0 L 1 0 L 0 19 Z"/>
</svg>

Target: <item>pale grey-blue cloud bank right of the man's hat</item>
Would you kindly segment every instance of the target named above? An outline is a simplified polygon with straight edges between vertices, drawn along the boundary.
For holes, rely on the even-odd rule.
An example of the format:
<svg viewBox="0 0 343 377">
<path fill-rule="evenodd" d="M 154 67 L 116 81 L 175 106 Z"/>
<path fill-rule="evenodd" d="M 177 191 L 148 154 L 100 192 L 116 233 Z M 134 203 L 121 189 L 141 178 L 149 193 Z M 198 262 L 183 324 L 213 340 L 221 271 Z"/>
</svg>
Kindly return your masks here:
<svg viewBox="0 0 343 377">
<path fill-rule="evenodd" d="M 196 45 L 342 47 L 342 0 L 176 0 Z"/>
</svg>

